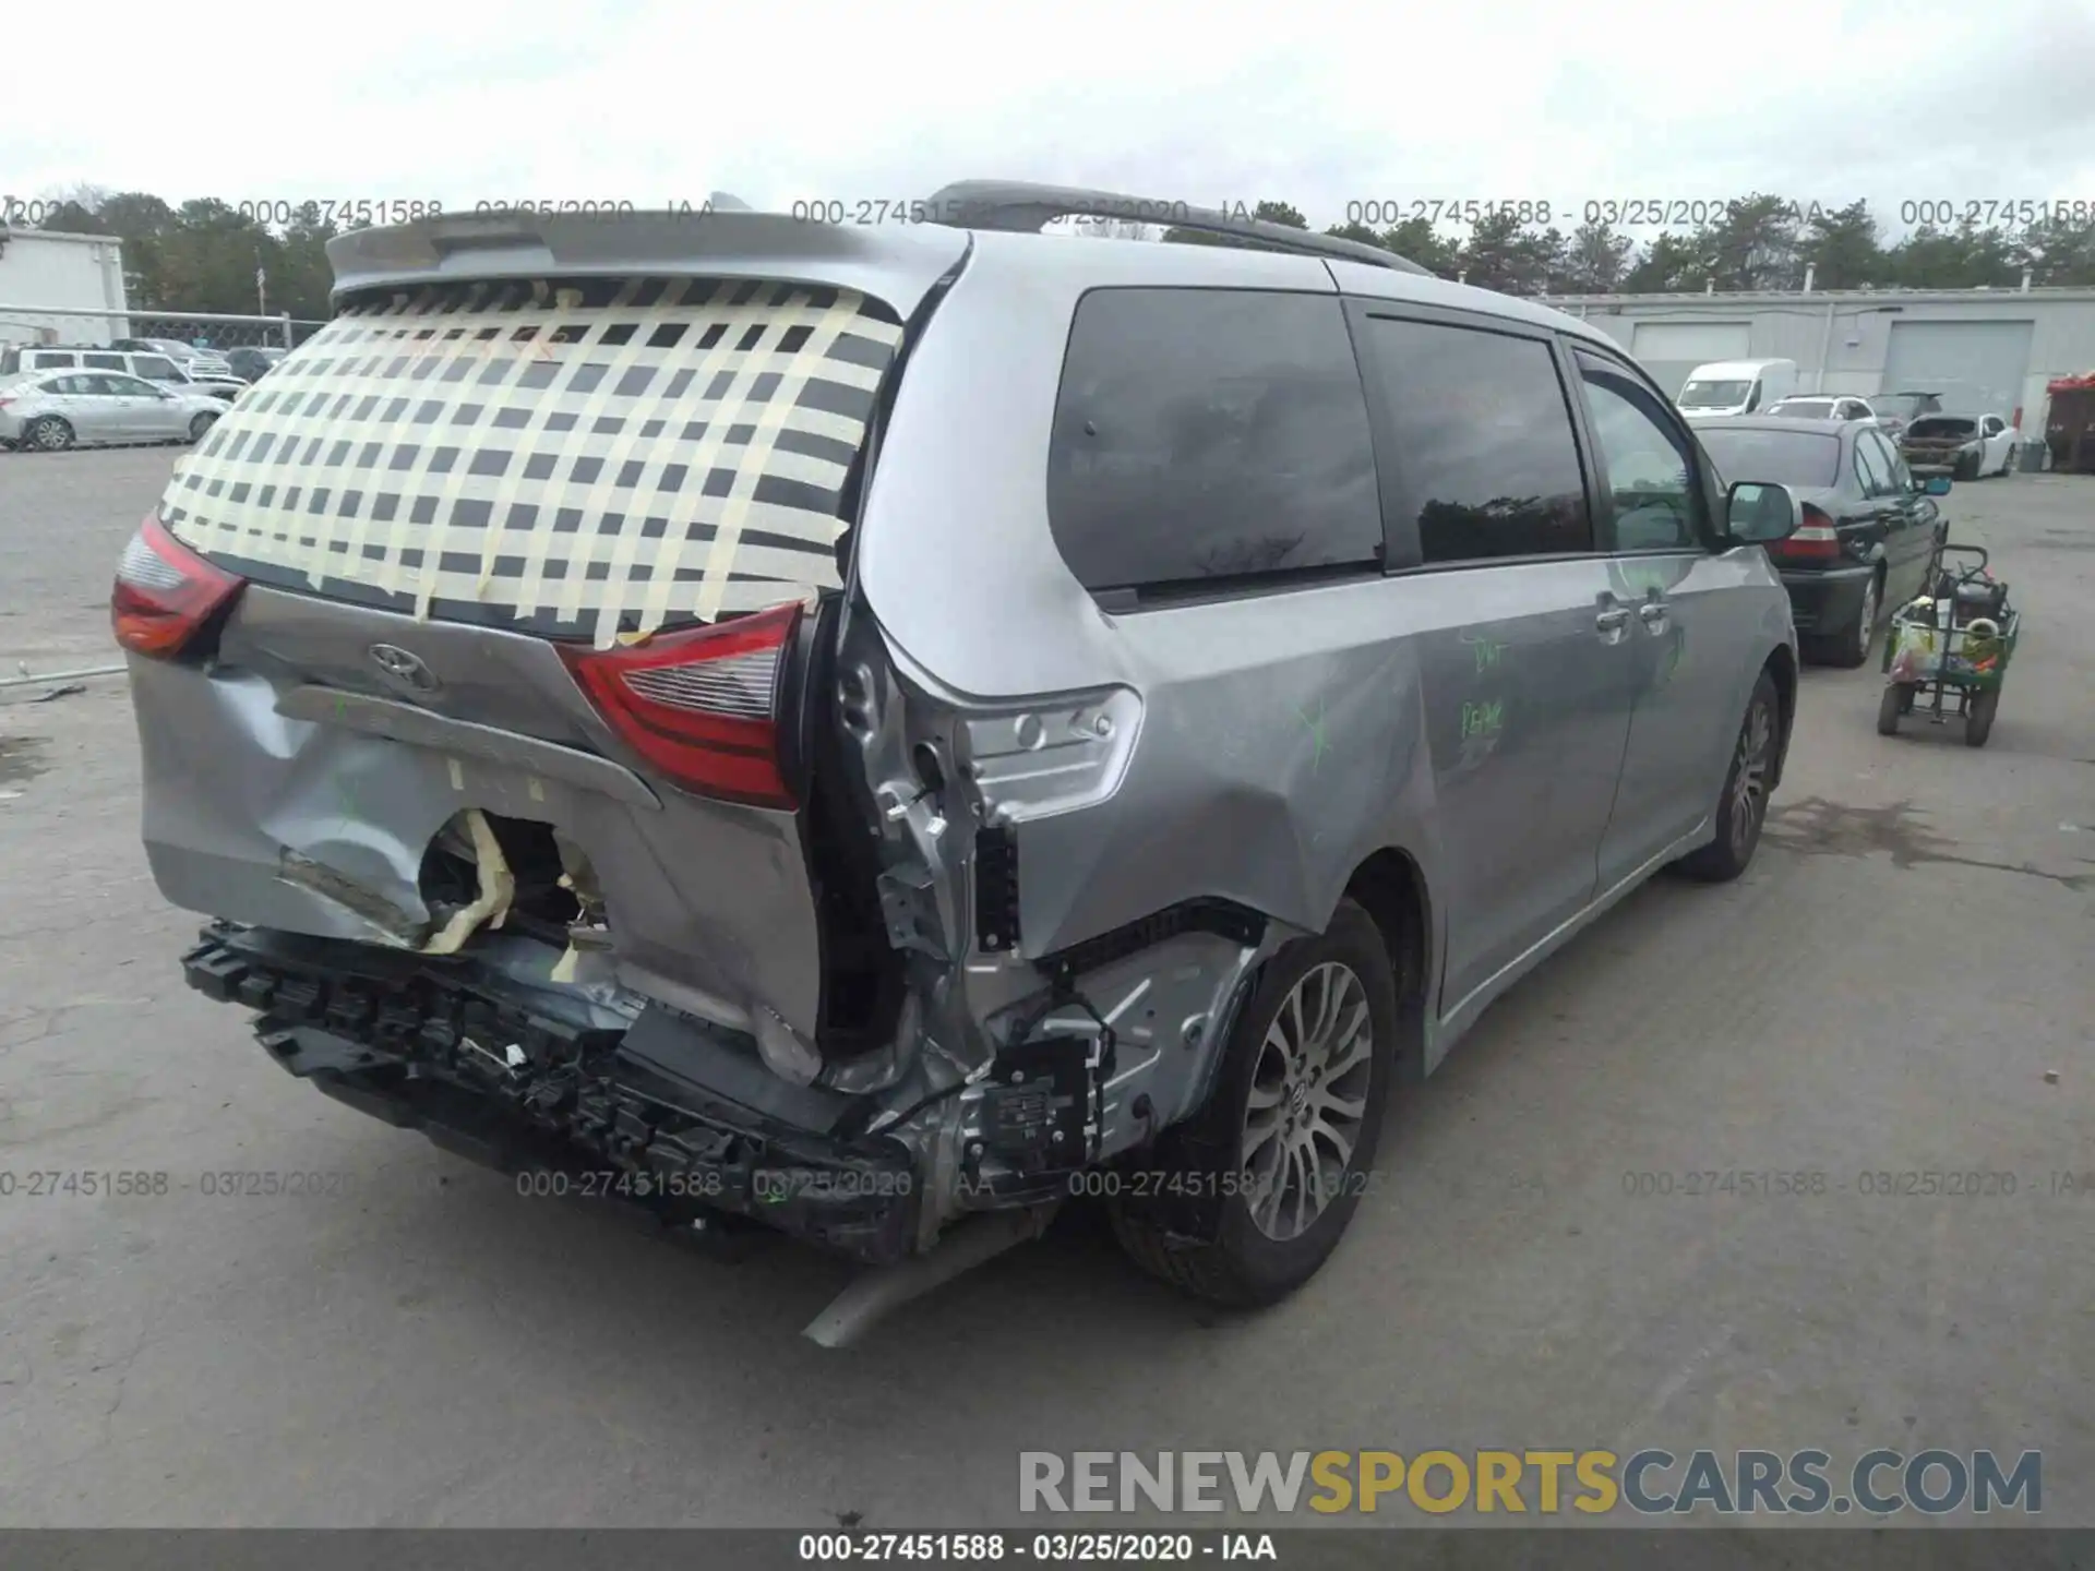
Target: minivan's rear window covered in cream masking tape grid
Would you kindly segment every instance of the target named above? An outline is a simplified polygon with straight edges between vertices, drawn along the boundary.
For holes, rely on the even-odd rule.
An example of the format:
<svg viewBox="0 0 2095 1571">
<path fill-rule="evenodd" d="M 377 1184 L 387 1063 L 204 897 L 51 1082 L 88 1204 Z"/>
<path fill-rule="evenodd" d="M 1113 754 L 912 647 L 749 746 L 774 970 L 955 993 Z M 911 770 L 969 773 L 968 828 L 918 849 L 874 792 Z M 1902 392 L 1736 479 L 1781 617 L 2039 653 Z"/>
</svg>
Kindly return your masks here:
<svg viewBox="0 0 2095 1571">
<path fill-rule="evenodd" d="M 599 647 L 811 599 L 901 331 L 763 281 L 354 302 L 176 463 L 161 522 L 258 582 Z"/>
</svg>

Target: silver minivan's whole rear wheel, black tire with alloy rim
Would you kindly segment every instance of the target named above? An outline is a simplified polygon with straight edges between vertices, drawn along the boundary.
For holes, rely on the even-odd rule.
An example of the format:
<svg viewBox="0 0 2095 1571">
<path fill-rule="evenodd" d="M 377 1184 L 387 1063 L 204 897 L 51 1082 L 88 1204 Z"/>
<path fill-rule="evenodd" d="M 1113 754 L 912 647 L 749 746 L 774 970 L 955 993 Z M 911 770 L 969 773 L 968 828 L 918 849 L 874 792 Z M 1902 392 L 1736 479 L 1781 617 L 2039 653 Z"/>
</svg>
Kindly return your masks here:
<svg viewBox="0 0 2095 1571">
<path fill-rule="evenodd" d="M 1397 1028 L 1383 934 L 1362 907 L 1339 901 L 1322 934 L 1265 966 L 1230 1024 L 1207 1106 L 1146 1160 L 1161 1179 L 1146 1190 L 1186 1188 L 1171 1186 L 1184 1175 L 1196 1192 L 1219 1194 L 1215 1238 L 1173 1240 L 1138 1198 L 1112 1198 L 1106 1215 L 1127 1257 L 1182 1292 L 1238 1309 L 1278 1303 L 1316 1276 L 1374 1169 Z"/>
</svg>

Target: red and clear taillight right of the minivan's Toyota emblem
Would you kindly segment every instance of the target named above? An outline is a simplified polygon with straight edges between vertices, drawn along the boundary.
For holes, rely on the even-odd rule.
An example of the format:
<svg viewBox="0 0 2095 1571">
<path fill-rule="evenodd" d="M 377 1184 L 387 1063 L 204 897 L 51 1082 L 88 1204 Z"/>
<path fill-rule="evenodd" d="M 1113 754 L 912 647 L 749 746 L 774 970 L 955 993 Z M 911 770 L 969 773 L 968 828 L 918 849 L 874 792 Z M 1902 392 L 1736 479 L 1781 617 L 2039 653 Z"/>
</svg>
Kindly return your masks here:
<svg viewBox="0 0 2095 1571">
<path fill-rule="evenodd" d="M 561 645 L 561 656 L 605 723 L 677 785 L 790 809 L 777 710 L 798 626 L 792 603 L 631 649 Z"/>
</svg>

